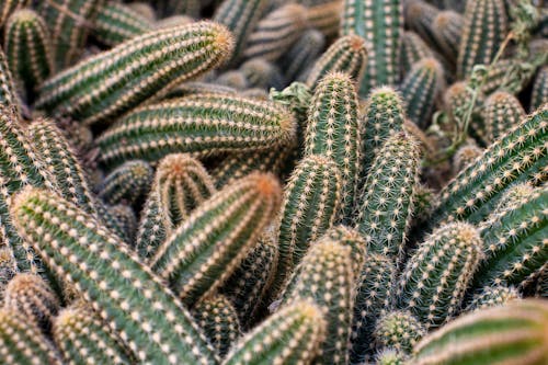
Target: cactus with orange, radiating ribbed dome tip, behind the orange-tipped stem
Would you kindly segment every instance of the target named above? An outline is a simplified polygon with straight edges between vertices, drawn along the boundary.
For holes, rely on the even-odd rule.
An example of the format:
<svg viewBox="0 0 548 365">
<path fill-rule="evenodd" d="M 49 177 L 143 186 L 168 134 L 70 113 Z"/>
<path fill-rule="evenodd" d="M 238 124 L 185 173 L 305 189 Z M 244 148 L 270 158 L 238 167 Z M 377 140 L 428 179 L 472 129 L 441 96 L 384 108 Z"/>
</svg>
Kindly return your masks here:
<svg viewBox="0 0 548 365">
<path fill-rule="evenodd" d="M 141 212 L 137 252 L 145 260 L 215 193 L 212 176 L 187 155 L 169 155 L 158 166 L 152 189 Z"/>
</svg>

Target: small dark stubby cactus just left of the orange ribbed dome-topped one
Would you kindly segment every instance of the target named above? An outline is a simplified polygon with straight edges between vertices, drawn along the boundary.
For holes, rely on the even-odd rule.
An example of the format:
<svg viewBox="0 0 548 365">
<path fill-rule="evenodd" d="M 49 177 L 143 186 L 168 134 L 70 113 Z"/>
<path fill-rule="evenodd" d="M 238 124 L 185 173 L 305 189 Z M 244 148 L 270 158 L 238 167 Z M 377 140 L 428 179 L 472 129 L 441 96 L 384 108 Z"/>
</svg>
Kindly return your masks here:
<svg viewBox="0 0 548 365">
<path fill-rule="evenodd" d="M 150 190 L 153 173 L 146 161 L 127 161 L 106 175 L 99 187 L 98 196 L 107 205 L 134 205 Z"/>
</svg>

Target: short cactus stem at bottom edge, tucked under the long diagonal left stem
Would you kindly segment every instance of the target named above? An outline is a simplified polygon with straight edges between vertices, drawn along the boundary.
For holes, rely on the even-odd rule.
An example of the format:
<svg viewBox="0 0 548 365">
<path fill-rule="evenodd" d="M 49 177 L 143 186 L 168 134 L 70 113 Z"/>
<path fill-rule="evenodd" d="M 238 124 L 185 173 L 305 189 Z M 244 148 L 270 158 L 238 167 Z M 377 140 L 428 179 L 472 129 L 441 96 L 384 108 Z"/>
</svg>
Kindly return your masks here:
<svg viewBox="0 0 548 365">
<path fill-rule="evenodd" d="M 84 303 L 76 303 L 59 313 L 53 337 L 67 364 L 132 364 L 132 354 Z"/>
</svg>

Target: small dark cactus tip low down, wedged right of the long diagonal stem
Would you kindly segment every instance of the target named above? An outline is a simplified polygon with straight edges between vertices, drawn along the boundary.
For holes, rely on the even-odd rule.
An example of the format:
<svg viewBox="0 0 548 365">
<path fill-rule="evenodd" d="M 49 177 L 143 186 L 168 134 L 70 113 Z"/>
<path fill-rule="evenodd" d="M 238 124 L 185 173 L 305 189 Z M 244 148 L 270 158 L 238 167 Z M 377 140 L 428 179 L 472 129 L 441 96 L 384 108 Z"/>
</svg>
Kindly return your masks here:
<svg viewBox="0 0 548 365">
<path fill-rule="evenodd" d="M 199 301 L 194 306 L 192 315 L 219 357 L 224 357 L 240 337 L 238 315 L 232 304 L 226 297 L 217 295 Z"/>
</svg>

